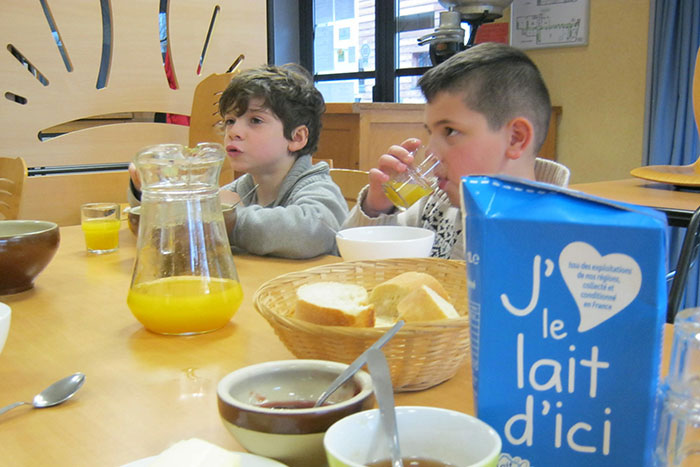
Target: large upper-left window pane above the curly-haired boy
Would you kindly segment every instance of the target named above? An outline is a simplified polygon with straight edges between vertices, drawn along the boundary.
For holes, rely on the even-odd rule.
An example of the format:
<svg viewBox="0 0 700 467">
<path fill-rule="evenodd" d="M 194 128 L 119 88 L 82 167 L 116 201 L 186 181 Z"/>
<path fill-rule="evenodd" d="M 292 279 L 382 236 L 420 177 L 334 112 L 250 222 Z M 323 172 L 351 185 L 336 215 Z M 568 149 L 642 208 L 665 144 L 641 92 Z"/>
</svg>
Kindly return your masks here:
<svg viewBox="0 0 700 467">
<path fill-rule="evenodd" d="M 375 0 L 314 0 L 314 73 L 374 70 Z"/>
</svg>

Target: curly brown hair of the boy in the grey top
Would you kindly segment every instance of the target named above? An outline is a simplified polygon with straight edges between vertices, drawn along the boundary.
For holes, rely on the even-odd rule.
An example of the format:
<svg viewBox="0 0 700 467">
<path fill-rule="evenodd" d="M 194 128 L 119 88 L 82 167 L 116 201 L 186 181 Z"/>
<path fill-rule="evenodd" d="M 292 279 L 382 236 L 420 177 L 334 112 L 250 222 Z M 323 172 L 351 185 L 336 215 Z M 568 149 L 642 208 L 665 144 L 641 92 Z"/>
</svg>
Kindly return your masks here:
<svg viewBox="0 0 700 467">
<path fill-rule="evenodd" d="M 304 68 L 296 64 L 263 65 L 241 71 L 221 94 L 219 112 L 222 116 L 230 112 L 241 116 L 248 110 L 250 100 L 256 98 L 262 99 L 263 106 L 280 119 L 288 140 L 298 126 L 309 129 L 306 146 L 295 151 L 294 156 L 316 152 L 326 104 Z"/>
</svg>

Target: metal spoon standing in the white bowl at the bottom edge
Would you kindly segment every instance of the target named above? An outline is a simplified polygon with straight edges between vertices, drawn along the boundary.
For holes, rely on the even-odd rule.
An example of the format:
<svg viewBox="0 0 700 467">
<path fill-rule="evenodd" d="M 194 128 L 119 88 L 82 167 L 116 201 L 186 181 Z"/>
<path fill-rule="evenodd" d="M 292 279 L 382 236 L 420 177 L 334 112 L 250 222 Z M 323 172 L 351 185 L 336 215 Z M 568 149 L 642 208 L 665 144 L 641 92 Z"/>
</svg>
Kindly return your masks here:
<svg viewBox="0 0 700 467">
<path fill-rule="evenodd" d="M 391 374 L 386 357 L 379 349 L 370 349 L 367 354 L 367 366 L 372 376 L 374 395 L 379 404 L 379 418 L 381 419 L 384 433 L 391 443 L 392 467 L 403 467 L 401 460 L 401 448 L 399 447 L 399 432 L 396 427 L 396 408 L 394 407 L 394 388 L 391 385 Z"/>
</svg>

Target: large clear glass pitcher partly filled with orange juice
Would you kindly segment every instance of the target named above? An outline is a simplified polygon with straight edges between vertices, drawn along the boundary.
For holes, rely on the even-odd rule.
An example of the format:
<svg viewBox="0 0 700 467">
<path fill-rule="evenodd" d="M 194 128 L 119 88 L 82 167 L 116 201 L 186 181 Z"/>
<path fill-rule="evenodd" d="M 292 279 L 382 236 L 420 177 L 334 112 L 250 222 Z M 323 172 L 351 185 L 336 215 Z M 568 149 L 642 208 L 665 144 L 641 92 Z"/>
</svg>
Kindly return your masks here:
<svg viewBox="0 0 700 467">
<path fill-rule="evenodd" d="M 217 143 L 149 146 L 134 159 L 141 219 L 127 304 L 150 331 L 214 331 L 243 300 L 218 197 L 224 159 Z"/>
</svg>

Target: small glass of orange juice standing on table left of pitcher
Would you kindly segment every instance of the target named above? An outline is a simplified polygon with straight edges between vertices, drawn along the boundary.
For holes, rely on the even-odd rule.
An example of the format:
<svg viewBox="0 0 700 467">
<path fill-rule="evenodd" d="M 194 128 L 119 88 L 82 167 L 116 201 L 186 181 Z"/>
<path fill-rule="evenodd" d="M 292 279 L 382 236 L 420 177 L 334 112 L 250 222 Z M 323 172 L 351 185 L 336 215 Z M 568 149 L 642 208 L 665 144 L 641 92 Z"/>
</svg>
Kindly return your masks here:
<svg viewBox="0 0 700 467">
<path fill-rule="evenodd" d="M 80 220 L 88 253 L 101 255 L 119 248 L 119 204 L 88 203 L 80 207 Z"/>
</svg>

